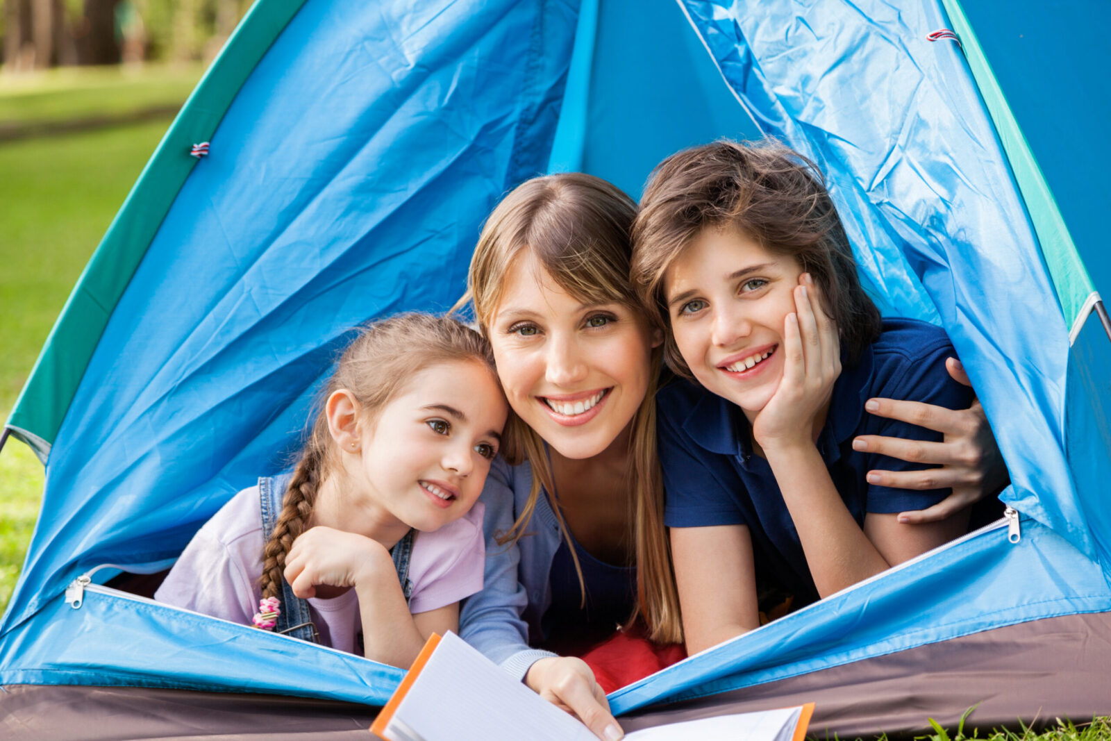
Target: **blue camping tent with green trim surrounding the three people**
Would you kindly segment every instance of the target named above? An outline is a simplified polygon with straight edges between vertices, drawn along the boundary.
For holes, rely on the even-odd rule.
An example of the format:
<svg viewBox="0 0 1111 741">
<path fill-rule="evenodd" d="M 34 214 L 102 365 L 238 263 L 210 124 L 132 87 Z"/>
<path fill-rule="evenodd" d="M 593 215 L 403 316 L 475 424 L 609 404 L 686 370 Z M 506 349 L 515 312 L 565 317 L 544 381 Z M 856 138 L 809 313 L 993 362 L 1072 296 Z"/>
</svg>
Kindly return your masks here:
<svg viewBox="0 0 1111 741">
<path fill-rule="evenodd" d="M 258 0 L 8 421 L 47 479 L 0 685 L 381 704 L 397 669 L 104 583 L 168 568 L 284 465 L 350 327 L 451 306 L 508 189 L 575 169 L 638 194 L 681 147 L 770 134 L 828 174 L 883 311 L 949 332 L 1018 514 L 619 690 L 614 711 L 641 713 L 632 728 L 799 694 L 842 734 L 977 702 L 982 723 L 1105 712 L 1111 259 L 1093 186 L 1111 11 L 900 4 Z M 857 693 L 851 721 L 823 715 L 852 704 L 835 688 Z"/>
</svg>

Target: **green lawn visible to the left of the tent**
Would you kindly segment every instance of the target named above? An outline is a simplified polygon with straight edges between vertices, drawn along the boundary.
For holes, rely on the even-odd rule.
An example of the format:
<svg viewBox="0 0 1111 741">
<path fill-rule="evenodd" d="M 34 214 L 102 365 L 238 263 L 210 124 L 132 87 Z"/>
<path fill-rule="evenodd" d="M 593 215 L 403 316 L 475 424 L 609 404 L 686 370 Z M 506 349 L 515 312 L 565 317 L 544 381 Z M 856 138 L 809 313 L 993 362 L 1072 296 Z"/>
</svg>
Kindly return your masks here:
<svg viewBox="0 0 1111 741">
<path fill-rule="evenodd" d="M 197 66 L 68 69 L 0 77 L 0 127 L 180 104 Z M 0 419 L 8 419 L 50 328 L 128 191 L 170 124 L 128 123 L 0 141 Z M 10 440 L 0 452 L 0 611 L 38 517 L 42 465 Z"/>
</svg>

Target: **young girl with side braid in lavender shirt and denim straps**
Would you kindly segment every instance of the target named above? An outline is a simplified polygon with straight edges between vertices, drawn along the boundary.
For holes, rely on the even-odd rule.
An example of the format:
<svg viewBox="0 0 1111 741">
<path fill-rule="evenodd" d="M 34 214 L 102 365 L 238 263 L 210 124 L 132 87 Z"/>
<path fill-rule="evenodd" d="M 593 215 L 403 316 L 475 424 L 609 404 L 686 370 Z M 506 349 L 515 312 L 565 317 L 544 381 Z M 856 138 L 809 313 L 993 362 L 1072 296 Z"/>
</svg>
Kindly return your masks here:
<svg viewBox="0 0 1111 741">
<path fill-rule="evenodd" d="M 453 319 L 392 317 L 324 399 L 292 474 L 232 498 L 154 597 L 408 667 L 482 588 L 476 500 L 508 413 L 490 349 Z"/>
</svg>

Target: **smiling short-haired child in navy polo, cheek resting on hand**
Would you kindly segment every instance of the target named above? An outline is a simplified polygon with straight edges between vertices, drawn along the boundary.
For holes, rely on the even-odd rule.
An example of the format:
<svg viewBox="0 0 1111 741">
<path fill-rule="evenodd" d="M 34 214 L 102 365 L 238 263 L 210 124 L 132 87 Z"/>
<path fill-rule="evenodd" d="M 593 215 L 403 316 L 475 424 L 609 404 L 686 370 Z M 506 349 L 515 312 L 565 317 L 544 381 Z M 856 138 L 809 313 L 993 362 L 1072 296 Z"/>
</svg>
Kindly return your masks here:
<svg viewBox="0 0 1111 741">
<path fill-rule="evenodd" d="M 658 398 L 690 652 L 759 625 L 758 571 L 812 601 L 964 532 L 968 510 L 899 521 L 948 490 L 879 485 L 875 469 L 919 467 L 854 441 L 935 447 L 941 435 L 873 417 L 869 400 L 963 409 L 971 390 L 947 372 L 944 332 L 881 322 L 809 162 L 728 141 L 672 156 L 641 202 L 632 277 L 668 327 L 669 364 L 695 381 Z"/>
</svg>

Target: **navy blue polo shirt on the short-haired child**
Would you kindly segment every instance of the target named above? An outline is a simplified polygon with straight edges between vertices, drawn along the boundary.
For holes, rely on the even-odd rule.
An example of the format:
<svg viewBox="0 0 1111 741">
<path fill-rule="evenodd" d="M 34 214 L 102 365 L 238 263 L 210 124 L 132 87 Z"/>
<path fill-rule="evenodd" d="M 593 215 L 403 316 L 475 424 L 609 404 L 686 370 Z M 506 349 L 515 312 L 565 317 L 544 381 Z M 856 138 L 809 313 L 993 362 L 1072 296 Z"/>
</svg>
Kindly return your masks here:
<svg viewBox="0 0 1111 741">
<path fill-rule="evenodd" d="M 833 385 L 818 450 L 833 485 L 858 523 L 867 512 L 903 512 L 935 504 L 949 489 L 911 491 L 871 485 L 868 471 L 929 468 L 857 452 L 852 439 L 882 434 L 940 441 L 941 433 L 864 411 L 872 397 L 965 409 L 972 390 L 953 381 L 945 358 L 955 357 L 945 333 L 925 322 L 888 319 L 859 363 Z M 677 379 L 657 395 L 660 462 L 670 528 L 748 525 L 758 575 L 794 592 L 795 604 L 817 599 L 802 544 L 768 461 L 752 453 L 749 421 L 739 407 L 697 383 Z"/>
</svg>

